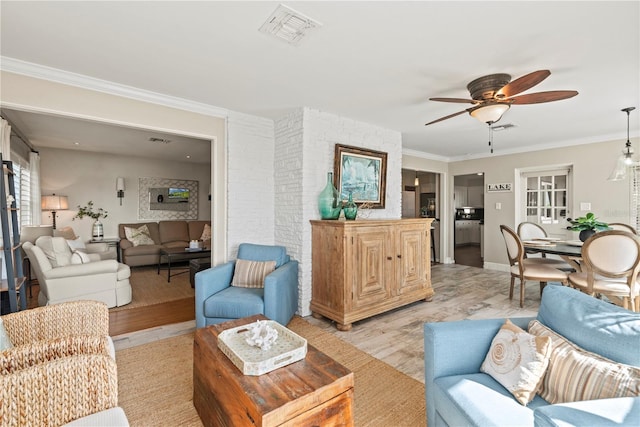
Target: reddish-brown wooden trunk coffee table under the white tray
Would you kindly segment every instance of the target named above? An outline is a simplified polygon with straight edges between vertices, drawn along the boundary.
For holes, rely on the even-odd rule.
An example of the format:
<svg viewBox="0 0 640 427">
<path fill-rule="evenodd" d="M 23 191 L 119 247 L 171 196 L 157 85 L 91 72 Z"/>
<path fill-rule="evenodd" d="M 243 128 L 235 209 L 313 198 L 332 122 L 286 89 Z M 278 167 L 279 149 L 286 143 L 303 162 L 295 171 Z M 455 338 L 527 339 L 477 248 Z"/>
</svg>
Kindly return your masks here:
<svg viewBox="0 0 640 427">
<path fill-rule="evenodd" d="M 205 426 L 352 426 L 353 373 L 307 344 L 299 361 L 260 376 L 243 375 L 218 348 L 225 329 L 256 315 L 198 329 L 193 346 L 193 405 Z"/>
</svg>

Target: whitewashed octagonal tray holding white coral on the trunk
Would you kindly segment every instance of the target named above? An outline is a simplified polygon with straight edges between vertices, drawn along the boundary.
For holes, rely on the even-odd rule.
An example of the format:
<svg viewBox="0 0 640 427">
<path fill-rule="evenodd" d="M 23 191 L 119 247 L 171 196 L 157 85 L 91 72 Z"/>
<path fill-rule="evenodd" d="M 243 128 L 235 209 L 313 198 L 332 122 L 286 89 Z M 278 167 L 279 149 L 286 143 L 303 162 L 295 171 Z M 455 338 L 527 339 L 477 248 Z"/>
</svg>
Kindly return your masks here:
<svg viewBox="0 0 640 427">
<path fill-rule="evenodd" d="M 304 359 L 307 340 L 274 320 L 263 320 L 278 331 L 278 339 L 269 350 L 250 346 L 245 341 L 249 325 L 227 329 L 218 335 L 218 347 L 244 375 L 262 375 Z"/>
</svg>

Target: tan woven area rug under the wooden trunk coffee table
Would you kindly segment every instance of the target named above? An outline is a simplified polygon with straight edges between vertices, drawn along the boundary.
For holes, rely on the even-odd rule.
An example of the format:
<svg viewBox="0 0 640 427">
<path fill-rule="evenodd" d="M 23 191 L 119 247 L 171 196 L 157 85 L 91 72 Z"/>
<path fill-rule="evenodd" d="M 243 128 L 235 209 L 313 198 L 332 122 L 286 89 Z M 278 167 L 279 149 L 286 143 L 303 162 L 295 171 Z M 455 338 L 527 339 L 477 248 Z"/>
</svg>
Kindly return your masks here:
<svg viewBox="0 0 640 427">
<path fill-rule="evenodd" d="M 299 317 L 288 327 L 354 372 L 356 426 L 425 426 L 424 384 Z M 193 333 L 118 351 L 119 403 L 132 426 L 201 426 Z"/>
</svg>

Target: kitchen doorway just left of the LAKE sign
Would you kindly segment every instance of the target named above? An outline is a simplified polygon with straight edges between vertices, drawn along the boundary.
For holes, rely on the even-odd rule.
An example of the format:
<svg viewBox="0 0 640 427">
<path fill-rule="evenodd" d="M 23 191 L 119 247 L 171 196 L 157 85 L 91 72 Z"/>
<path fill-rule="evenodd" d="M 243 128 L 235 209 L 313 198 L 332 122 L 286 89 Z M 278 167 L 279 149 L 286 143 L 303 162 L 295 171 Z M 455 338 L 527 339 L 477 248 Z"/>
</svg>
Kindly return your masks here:
<svg viewBox="0 0 640 427">
<path fill-rule="evenodd" d="M 484 173 L 453 178 L 454 259 L 456 264 L 484 265 Z"/>
</svg>

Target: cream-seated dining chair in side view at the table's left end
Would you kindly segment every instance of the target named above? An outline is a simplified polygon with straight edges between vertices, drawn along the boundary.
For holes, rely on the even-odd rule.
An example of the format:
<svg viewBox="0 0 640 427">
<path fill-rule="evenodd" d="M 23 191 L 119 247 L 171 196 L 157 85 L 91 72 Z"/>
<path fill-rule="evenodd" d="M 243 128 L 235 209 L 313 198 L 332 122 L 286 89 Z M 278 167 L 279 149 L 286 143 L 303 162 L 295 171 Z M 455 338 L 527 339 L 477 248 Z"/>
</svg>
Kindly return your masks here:
<svg viewBox="0 0 640 427">
<path fill-rule="evenodd" d="M 501 225 L 500 232 L 507 246 L 507 257 L 511 265 L 511 283 L 509 299 L 513 299 L 513 288 L 516 278 L 520 279 L 520 307 L 524 306 L 524 286 L 527 280 L 540 282 L 540 295 L 547 282 L 568 284 L 568 273 L 550 265 L 534 263 L 525 258 L 524 245 L 518 234 L 509 226 Z"/>
</svg>

